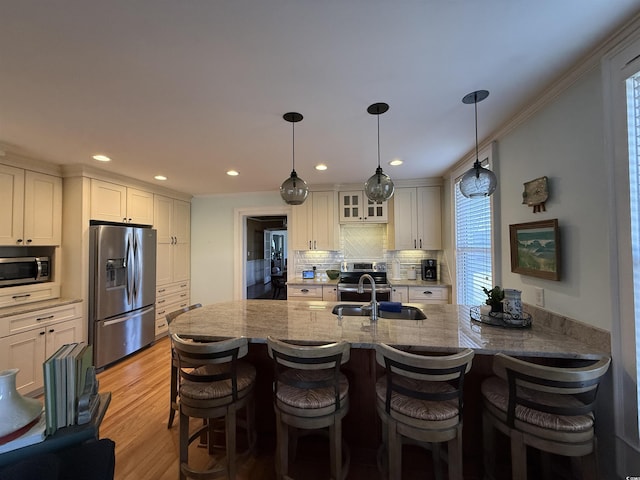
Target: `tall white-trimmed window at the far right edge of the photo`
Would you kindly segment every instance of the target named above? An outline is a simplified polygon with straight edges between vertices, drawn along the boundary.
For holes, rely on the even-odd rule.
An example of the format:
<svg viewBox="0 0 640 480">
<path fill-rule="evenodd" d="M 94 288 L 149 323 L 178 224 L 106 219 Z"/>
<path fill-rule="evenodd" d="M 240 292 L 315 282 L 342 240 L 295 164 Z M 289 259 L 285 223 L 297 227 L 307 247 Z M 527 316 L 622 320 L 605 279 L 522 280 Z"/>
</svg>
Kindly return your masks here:
<svg viewBox="0 0 640 480">
<path fill-rule="evenodd" d="M 612 158 L 611 353 L 616 405 L 617 470 L 638 465 L 640 393 L 640 39 L 603 59 L 605 144 Z"/>
</svg>

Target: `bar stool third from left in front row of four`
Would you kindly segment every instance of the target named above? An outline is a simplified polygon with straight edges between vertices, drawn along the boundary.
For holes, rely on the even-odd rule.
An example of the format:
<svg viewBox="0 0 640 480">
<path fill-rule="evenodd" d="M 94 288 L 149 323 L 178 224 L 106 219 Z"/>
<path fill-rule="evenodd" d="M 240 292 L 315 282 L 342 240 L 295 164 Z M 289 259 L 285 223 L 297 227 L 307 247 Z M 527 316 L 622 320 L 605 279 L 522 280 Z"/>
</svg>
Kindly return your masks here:
<svg viewBox="0 0 640 480">
<path fill-rule="evenodd" d="M 430 447 L 442 479 L 439 444 L 447 442 L 449 479 L 462 480 L 462 395 L 472 359 L 470 349 L 426 356 L 376 345 L 376 361 L 387 370 L 376 382 L 376 397 L 390 479 L 402 477 L 403 442 Z M 385 470 L 382 456 L 379 467 Z"/>
</svg>

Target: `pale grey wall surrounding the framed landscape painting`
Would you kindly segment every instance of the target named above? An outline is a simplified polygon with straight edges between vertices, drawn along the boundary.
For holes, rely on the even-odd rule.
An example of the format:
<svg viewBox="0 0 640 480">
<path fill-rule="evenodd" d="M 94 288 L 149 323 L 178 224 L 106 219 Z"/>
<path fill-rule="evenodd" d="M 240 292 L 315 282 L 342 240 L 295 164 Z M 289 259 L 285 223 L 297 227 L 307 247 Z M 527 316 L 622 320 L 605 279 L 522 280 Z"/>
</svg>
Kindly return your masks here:
<svg viewBox="0 0 640 480">
<path fill-rule="evenodd" d="M 611 331 L 607 174 L 600 71 L 594 69 L 498 138 L 502 284 L 522 290 L 534 303 L 544 289 L 544 308 Z M 546 212 L 522 204 L 523 183 L 546 175 Z M 561 279 L 511 272 L 509 225 L 557 218 L 561 234 Z"/>
</svg>

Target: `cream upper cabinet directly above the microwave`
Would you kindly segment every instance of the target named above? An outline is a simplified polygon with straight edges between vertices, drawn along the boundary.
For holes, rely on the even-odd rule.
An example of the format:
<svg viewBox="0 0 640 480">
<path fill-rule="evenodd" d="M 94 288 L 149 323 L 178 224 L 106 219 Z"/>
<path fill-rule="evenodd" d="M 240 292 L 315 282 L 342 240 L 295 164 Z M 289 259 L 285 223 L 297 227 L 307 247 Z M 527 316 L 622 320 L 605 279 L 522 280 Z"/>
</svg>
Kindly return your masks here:
<svg viewBox="0 0 640 480">
<path fill-rule="evenodd" d="M 62 179 L 0 165 L 0 245 L 60 245 Z"/>
</svg>

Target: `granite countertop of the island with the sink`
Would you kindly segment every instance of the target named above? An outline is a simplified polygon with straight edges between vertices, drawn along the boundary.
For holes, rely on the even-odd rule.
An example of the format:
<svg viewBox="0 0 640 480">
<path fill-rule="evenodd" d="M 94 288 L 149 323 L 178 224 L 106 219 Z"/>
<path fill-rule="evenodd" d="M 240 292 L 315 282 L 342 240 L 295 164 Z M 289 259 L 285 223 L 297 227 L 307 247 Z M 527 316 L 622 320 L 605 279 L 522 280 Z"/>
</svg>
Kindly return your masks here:
<svg viewBox="0 0 640 480">
<path fill-rule="evenodd" d="M 559 333 L 533 318 L 531 328 L 501 328 L 472 322 L 464 305 L 422 305 L 426 320 L 387 320 L 331 313 L 337 302 L 237 300 L 206 305 L 178 316 L 169 332 L 185 336 L 245 336 L 264 343 L 268 335 L 296 341 L 346 340 L 354 348 L 376 343 L 447 351 L 472 348 L 476 353 L 591 358 L 607 351 Z"/>
</svg>

